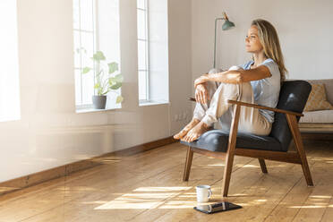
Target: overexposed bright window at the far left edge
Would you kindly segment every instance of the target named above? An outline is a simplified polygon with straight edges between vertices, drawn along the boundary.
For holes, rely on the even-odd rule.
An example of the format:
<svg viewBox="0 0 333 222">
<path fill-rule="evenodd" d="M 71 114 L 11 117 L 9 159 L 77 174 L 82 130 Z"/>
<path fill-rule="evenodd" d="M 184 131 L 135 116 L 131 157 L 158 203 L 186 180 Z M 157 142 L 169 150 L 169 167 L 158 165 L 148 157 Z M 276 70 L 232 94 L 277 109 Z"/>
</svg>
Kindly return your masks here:
<svg viewBox="0 0 333 222">
<path fill-rule="evenodd" d="M 0 122 L 21 118 L 16 8 L 16 1 L 0 1 Z"/>
</svg>

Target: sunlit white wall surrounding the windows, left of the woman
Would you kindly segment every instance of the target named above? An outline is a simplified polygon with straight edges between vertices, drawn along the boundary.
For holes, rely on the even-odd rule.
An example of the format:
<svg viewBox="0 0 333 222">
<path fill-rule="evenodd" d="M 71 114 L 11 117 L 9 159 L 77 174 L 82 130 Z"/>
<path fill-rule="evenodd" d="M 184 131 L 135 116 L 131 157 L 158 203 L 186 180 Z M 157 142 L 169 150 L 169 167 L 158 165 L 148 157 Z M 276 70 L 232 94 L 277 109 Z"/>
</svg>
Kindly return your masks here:
<svg viewBox="0 0 333 222">
<path fill-rule="evenodd" d="M 0 182 L 166 138 L 191 103 L 191 1 L 169 0 L 170 105 L 138 106 L 136 1 L 120 1 L 123 108 L 76 114 L 69 0 L 18 0 L 21 120 L 0 123 Z M 179 22 L 182 20 L 181 22 Z"/>
</svg>

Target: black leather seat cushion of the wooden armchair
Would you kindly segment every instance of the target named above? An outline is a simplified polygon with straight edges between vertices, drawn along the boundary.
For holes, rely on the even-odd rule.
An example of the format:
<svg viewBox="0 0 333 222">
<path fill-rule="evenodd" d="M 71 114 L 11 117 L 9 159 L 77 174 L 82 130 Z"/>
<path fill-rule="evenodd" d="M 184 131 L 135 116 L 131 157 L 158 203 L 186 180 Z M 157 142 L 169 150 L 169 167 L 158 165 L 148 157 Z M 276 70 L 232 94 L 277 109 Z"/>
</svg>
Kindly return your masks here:
<svg viewBox="0 0 333 222">
<path fill-rule="evenodd" d="M 228 140 L 229 132 L 212 130 L 203 133 L 198 141 L 190 143 L 181 141 L 181 143 L 195 148 L 226 152 Z M 281 143 L 274 137 L 257 136 L 248 133 L 237 134 L 236 148 L 282 151 Z"/>
</svg>

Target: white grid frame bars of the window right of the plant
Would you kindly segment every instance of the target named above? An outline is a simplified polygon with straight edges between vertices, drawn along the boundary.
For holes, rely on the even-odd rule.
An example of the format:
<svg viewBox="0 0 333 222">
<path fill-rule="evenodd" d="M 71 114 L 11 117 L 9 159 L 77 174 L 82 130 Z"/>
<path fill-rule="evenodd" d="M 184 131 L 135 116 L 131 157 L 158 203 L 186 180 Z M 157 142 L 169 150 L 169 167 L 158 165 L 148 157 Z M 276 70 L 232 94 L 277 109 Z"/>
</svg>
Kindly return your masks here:
<svg viewBox="0 0 333 222">
<path fill-rule="evenodd" d="M 137 0 L 137 3 L 139 2 L 140 0 Z M 139 69 L 138 67 L 138 77 L 139 77 L 139 73 L 140 72 L 145 72 L 146 73 L 146 98 L 145 99 L 140 99 L 140 95 L 139 95 L 139 104 L 144 104 L 144 103 L 147 103 L 149 102 L 150 100 L 150 96 L 149 96 L 149 73 L 150 73 L 150 69 L 149 69 L 149 6 L 148 6 L 148 1 L 149 0 L 143 0 L 144 1 L 144 8 L 140 8 L 137 4 L 137 15 L 139 14 L 138 12 L 141 11 L 141 12 L 144 12 L 145 13 L 145 35 L 146 35 L 146 38 L 137 38 L 137 41 L 138 41 L 138 46 L 139 46 L 139 41 L 144 41 L 146 42 L 146 48 L 145 48 L 145 61 L 146 61 L 146 67 L 145 69 Z M 139 26 L 138 26 L 138 33 L 139 33 Z M 139 52 L 138 52 L 138 61 L 140 60 L 139 59 Z M 138 88 L 139 88 L 139 91 L 140 91 L 140 82 L 139 82 L 139 79 L 138 78 Z"/>
</svg>

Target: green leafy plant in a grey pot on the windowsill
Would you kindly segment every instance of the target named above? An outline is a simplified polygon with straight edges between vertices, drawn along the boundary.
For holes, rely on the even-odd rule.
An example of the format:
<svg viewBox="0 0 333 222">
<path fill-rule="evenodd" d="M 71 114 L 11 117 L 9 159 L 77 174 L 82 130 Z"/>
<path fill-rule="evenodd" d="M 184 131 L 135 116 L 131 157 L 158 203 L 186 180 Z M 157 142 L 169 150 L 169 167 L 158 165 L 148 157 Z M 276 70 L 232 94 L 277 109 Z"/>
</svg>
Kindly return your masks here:
<svg viewBox="0 0 333 222">
<path fill-rule="evenodd" d="M 94 61 L 96 69 L 91 67 L 84 67 L 82 74 L 90 73 L 95 71 L 95 85 L 94 85 L 94 96 L 92 96 L 93 107 L 97 109 L 105 109 L 107 104 L 107 93 L 115 92 L 122 87 L 123 75 L 116 74 L 118 71 L 118 64 L 115 62 L 106 62 L 107 58 L 102 51 L 97 51 L 91 58 Z M 117 94 L 115 103 L 123 102 L 124 98 Z"/>
</svg>

